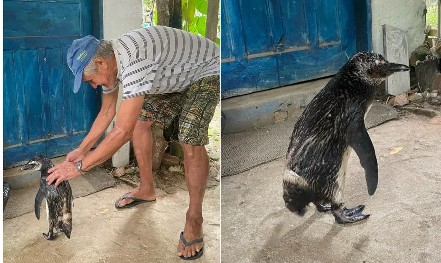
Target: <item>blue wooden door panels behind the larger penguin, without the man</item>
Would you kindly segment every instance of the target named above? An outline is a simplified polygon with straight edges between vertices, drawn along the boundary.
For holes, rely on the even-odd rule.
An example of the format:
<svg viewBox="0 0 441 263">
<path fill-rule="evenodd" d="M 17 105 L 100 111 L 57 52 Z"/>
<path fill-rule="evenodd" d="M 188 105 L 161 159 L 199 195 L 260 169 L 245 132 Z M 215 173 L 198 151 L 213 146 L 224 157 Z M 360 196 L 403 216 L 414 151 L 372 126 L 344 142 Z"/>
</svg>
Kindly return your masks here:
<svg viewBox="0 0 441 263">
<path fill-rule="evenodd" d="M 221 0 L 222 98 L 335 74 L 356 52 L 353 0 Z"/>
</svg>

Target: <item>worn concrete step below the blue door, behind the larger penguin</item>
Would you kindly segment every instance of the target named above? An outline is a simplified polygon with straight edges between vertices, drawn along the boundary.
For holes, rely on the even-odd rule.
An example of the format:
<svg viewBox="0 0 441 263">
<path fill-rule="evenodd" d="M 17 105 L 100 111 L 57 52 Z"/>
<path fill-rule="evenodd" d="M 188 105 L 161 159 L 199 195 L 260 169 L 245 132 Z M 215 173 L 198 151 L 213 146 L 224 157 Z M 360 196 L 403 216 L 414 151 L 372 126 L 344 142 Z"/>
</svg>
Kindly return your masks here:
<svg viewBox="0 0 441 263">
<path fill-rule="evenodd" d="M 298 119 L 303 109 L 331 78 L 256 92 L 221 101 L 225 122 L 222 134 L 239 133 L 287 119 Z"/>
</svg>

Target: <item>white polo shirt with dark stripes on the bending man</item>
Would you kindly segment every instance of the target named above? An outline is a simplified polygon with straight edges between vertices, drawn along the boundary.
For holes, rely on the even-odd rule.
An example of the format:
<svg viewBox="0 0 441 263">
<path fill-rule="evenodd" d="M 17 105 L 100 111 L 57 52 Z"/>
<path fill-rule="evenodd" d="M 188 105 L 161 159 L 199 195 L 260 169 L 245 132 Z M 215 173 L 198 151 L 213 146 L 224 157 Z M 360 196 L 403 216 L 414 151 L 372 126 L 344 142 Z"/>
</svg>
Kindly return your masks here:
<svg viewBox="0 0 441 263">
<path fill-rule="evenodd" d="M 194 81 L 221 73 L 220 47 L 189 32 L 151 26 L 112 40 L 123 99 L 184 91 Z"/>
</svg>

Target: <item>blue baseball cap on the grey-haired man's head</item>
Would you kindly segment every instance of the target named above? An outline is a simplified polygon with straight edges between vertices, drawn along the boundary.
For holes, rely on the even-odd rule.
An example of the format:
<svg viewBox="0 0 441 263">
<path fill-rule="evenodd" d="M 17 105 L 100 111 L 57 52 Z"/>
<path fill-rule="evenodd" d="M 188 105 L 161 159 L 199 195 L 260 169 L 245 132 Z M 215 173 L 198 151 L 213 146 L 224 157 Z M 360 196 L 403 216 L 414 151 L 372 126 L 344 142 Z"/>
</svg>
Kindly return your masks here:
<svg viewBox="0 0 441 263">
<path fill-rule="evenodd" d="M 80 39 L 75 39 L 72 46 L 68 50 L 66 59 L 68 66 L 75 75 L 74 93 L 78 92 L 81 86 L 82 73 L 92 60 L 93 55 L 98 50 L 99 40 L 92 35 L 85 36 Z"/>
</svg>

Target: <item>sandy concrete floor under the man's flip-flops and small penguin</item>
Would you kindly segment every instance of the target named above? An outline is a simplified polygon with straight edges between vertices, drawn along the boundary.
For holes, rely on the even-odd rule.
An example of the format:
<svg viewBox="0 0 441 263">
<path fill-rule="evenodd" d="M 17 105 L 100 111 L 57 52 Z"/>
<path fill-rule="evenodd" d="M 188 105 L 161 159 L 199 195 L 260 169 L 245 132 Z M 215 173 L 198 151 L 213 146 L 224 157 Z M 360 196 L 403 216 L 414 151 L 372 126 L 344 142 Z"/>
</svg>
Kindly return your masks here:
<svg viewBox="0 0 441 263">
<path fill-rule="evenodd" d="M 157 190 L 155 203 L 116 210 L 115 200 L 130 189 L 120 185 L 74 199 L 70 240 L 63 233 L 54 241 L 44 239 L 45 211 L 40 220 L 32 212 L 3 221 L 3 262 L 183 262 L 176 248 L 188 192 L 179 189 L 169 195 Z M 220 186 L 207 188 L 203 215 L 204 255 L 196 262 L 220 262 Z"/>
</svg>

